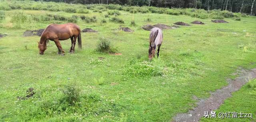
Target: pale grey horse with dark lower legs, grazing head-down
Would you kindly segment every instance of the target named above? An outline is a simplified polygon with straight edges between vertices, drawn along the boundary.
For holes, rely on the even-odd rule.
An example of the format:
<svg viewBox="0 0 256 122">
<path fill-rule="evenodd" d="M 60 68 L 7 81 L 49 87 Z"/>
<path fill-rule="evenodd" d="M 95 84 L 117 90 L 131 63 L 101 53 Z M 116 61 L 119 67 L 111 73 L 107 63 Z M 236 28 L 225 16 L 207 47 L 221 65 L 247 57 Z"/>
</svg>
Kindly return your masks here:
<svg viewBox="0 0 256 122">
<path fill-rule="evenodd" d="M 158 46 L 157 58 L 159 56 L 160 46 L 163 42 L 163 33 L 160 28 L 154 27 L 150 30 L 149 36 L 149 49 L 148 49 L 148 59 L 152 60 L 156 53 L 156 46 Z"/>
</svg>

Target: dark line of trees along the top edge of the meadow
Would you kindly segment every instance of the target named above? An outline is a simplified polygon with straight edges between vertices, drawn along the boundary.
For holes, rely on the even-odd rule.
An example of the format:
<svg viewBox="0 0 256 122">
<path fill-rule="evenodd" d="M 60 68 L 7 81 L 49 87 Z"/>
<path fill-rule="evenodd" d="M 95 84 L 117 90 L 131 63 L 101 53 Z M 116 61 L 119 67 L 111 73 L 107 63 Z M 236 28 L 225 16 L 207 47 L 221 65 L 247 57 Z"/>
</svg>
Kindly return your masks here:
<svg viewBox="0 0 256 122">
<path fill-rule="evenodd" d="M 37 1 L 37 0 L 36 0 Z M 228 10 L 256 14 L 255 0 L 43 0 L 73 4 L 120 4 L 128 6 L 155 6 L 164 8 L 198 8 Z"/>
</svg>

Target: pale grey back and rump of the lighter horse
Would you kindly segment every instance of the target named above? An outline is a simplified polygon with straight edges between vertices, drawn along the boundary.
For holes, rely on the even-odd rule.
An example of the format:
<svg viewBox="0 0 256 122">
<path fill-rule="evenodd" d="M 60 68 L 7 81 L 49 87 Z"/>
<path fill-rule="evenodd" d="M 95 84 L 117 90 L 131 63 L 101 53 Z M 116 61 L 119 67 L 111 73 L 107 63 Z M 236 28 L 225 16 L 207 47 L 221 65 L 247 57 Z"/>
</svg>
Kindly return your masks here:
<svg viewBox="0 0 256 122">
<path fill-rule="evenodd" d="M 154 40 L 154 43 L 155 45 L 161 45 L 163 42 L 163 33 L 162 33 L 162 29 L 158 27 L 154 27 L 150 30 L 150 41 L 153 41 L 154 34 L 157 30 L 158 30 L 158 35 L 156 37 L 156 40 Z"/>
</svg>

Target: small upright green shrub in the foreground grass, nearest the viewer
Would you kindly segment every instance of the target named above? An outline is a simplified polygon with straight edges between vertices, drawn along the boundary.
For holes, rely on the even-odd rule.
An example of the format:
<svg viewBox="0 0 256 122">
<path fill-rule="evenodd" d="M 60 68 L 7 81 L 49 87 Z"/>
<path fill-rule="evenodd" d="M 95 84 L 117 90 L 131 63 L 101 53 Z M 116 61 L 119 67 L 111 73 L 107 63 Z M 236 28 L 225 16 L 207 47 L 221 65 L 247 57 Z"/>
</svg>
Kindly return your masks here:
<svg viewBox="0 0 256 122">
<path fill-rule="evenodd" d="M 75 105 L 80 100 L 80 88 L 76 83 L 72 85 L 66 85 L 62 92 L 64 93 L 64 99 L 70 104 Z"/>
</svg>

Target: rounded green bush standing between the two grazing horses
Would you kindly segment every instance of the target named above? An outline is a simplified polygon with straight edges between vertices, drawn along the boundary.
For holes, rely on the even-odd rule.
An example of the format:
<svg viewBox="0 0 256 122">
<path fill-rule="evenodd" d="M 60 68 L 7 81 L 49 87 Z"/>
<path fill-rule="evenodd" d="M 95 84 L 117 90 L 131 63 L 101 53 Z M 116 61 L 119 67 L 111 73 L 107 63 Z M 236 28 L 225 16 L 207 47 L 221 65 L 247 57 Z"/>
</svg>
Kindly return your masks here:
<svg viewBox="0 0 256 122">
<path fill-rule="evenodd" d="M 97 49 L 98 52 L 104 52 L 104 53 L 114 53 L 115 49 L 111 47 L 110 41 L 106 38 L 100 38 L 100 41 L 98 42 Z"/>
</svg>

